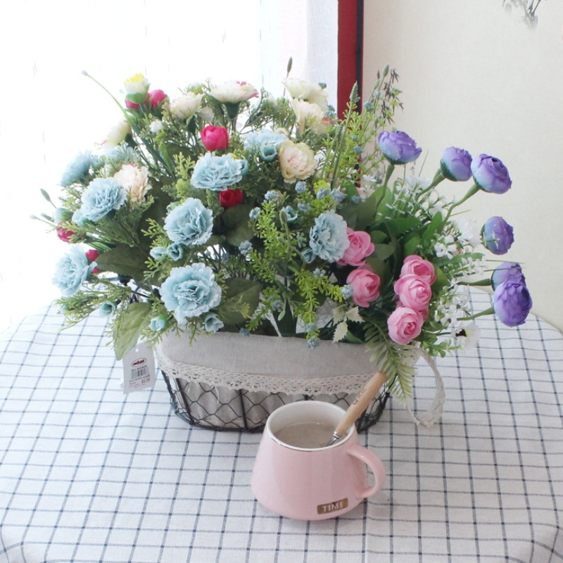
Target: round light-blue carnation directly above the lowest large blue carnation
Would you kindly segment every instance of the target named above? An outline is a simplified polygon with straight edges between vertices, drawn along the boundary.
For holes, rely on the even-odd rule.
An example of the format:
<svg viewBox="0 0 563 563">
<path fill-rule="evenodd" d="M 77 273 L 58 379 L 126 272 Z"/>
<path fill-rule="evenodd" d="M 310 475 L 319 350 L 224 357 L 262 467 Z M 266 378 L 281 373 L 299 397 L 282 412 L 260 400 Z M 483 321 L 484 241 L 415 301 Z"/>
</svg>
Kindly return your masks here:
<svg viewBox="0 0 563 563">
<path fill-rule="evenodd" d="M 198 246 L 213 231 L 213 212 L 196 198 L 187 198 L 168 213 L 164 230 L 172 242 Z"/>
</svg>

